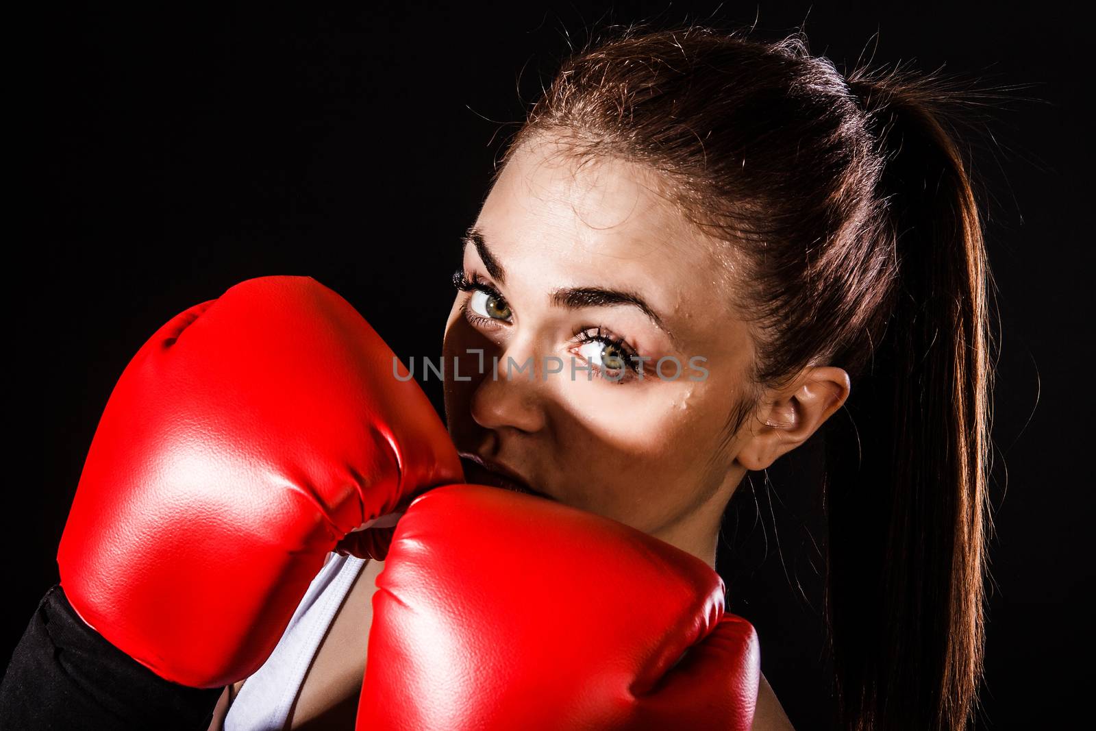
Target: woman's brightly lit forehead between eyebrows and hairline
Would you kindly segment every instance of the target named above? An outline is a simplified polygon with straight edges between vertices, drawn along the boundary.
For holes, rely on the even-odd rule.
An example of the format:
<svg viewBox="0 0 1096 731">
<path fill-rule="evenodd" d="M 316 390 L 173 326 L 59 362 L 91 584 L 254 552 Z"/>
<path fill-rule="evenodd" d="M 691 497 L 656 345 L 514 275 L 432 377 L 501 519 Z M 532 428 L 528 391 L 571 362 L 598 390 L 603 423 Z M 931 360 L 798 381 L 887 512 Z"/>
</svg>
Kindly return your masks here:
<svg viewBox="0 0 1096 731">
<path fill-rule="evenodd" d="M 666 317 L 700 306 L 710 315 L 727 301 L 727 244 L 682 215 L 659 173 L 569 152 L 536 138 L 513 151 L 491 189 L 477 228 L 507 271 L 548 287 L 639 290 Z"/>
</svg>

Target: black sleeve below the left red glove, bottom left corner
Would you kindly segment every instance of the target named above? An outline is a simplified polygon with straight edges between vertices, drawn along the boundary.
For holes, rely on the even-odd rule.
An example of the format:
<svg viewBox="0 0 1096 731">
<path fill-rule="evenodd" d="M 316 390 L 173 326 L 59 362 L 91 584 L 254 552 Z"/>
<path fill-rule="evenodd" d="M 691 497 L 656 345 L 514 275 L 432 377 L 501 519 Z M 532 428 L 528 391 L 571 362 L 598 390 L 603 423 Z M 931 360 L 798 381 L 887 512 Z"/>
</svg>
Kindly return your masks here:
<svg viewBox="0 0 1096 731">
<path fill-rule="evenodd" d="M 206 731 L 222 690 L 163 679 L 85 625 L 57 584 L 12 653 L 0 730 Z"/>
</svg>

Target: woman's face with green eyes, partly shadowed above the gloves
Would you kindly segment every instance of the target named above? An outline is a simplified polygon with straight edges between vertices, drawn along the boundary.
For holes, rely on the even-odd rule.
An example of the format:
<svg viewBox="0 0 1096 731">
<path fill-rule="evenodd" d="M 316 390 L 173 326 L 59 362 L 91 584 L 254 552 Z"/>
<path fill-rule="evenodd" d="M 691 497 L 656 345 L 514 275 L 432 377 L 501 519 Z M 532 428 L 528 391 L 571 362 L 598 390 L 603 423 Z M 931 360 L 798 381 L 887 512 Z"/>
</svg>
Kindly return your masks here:
<svg viewBox="0 0 1096 731">
<path fill-rule="evenodd" d="M 752 357 L 727 266 L 654 173 L 580 167 L 561 149 L 540 138 L 517 150 L 465 243 L 444 355 L 466 478 L 505 484 L 479 456 L 710 562 L 745 472 L 726 427 Z"/>
</svg>

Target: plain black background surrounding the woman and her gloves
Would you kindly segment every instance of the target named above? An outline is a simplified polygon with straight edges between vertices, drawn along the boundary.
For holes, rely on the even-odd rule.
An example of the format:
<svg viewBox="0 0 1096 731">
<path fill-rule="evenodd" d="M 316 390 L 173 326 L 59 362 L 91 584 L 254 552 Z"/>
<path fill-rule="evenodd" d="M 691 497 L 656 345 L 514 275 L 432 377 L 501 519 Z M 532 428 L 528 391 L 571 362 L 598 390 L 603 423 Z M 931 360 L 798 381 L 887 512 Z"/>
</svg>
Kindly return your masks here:
<svg viewBox="0 0 1096 731">
<path fill-rule="evenodd" d="M 54 4 L 10 26 L 26 48 L 9 68 L 9 115 L 26 134 L 9 137 L 9 150 L 30 164 L 12 181 L 22 226 L 4 255 L 9 459 L 22 476 L 7 491 L 2 656 L 57 581 L 56 546 L 99 413 L 159 324 L 241 279 L 308 274 L 350 299 L 404 359 L 436 357 L 457 237 L 476 217 L 507 124 L 568 38 L 643 19 L 756 21 L 758 37 L 802 24 L 812 52 L 838 68 L 874 53 L 876 62 L 915 59 L 983 85 L 1025 85 L 975 157 L 992 194 L 1002 319 L 978 726 L 1053 726 L 1087 675 L 1073 667 L 1089 651 L 1082 589 L 1093 573 L 1092 470 L 1080 455 L 1093 407 L 1081 370 L 1092 355 L 1083 325 L 1092 237 L 1082 229 L 1092 204 L 1081 167 L 1092 84 L 1084 24 L 1069 12 L 923 2 Z M 424 387 L 441 410 L 438 384 Z M 719 566 L 799 729 L 825 728 L 829 712 L 812 449 L 769 470 L 767 483 L 753 476 L 729 514 Z"/>
</svg>

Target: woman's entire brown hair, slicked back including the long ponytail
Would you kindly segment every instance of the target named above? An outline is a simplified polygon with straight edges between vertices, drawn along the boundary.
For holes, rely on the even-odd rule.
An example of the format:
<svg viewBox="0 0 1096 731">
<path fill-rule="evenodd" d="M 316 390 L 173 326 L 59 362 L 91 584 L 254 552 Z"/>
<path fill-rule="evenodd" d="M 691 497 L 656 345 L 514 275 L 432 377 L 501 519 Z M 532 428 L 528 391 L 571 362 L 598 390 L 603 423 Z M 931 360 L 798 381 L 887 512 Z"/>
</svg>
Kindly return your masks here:
<svg viewBox="0 0 1096 731">
<path fill-rule="evenodd" d="M 995 95 L 901 67 L 843 76 L 801 33 L 617 31 L 563 62 L 503 161 L 550 133 L 578 157 L 648 163 L 744 263 L 755 392 L 811 364 L 849 373 L 848 419 L 822 430 L 837 718 L 963 728 L 982 674 L 993 342 L 954 123 Z"/>
</svg>

